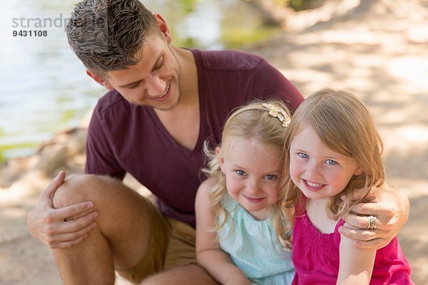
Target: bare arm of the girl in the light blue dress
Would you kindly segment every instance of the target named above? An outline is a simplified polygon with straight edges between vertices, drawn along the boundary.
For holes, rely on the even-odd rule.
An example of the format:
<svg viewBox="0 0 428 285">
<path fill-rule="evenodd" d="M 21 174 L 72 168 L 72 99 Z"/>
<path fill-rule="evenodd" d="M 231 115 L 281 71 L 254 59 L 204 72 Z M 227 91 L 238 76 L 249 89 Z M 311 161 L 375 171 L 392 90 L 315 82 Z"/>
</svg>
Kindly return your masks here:
<svg viewBox="0 0 428 285">
<path fill-rule="evenodd" d="M 243 271 L 233 264 L 229 255 L 215 242 L 216 234 L 208 232 L 208 228 L 215 224 L 208 196 L 208 190 L 215 182 L 213 178 L 205 180 L 196 194 L 196 259 L 220 284 L 250 285 Z"/>
</svg>

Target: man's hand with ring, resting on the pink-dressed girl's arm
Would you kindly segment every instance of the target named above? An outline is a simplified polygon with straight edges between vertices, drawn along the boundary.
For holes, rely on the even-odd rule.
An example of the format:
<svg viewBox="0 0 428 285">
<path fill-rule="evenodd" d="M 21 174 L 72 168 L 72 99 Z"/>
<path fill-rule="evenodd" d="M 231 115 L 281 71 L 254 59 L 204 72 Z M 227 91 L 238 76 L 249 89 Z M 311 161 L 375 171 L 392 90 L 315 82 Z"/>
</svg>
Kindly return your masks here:
<svg viewBox="0 0 428 285">
<path fill-rule="evenodd" d="M 373 191 L 372 191 L 373 192 Z M 345 221 L 358 229 L 340 227 L 340 234 L 355 239 L 354 246 L 360 249 L 381 249 L 387 246 L 409 217 L 409 199 L 403 192 L 384 185 L 374 190 L 377 200 L 352 207 Z M 376 229 L 369 228 L 368 216 L 376 217 Z"/>
</svg>

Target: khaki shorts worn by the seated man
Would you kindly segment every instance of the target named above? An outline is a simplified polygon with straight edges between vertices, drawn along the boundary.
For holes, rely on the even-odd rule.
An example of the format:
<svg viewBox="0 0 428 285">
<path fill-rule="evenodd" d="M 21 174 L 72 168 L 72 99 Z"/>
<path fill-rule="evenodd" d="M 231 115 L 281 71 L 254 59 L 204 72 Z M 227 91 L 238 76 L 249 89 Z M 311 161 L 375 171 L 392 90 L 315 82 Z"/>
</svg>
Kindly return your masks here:
<svg viewBox="0 0 428 285">
<path fill-rule="evenodd" d="M 123 278 L 138 284 L 157 272 L 196 263 L 195 229 L 176 219 L 165 217 L 147 200 L 151 218 L 148 251 L 130 270 L 118 271 Z"/>
</svg>

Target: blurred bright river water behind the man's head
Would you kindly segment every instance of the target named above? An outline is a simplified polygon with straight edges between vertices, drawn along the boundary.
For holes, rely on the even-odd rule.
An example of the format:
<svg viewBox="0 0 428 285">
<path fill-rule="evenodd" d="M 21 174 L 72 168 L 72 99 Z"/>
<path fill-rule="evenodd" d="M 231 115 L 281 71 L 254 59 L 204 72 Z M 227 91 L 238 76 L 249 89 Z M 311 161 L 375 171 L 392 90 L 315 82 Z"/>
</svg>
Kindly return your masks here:
<svg viewBox="0 0 428 285">
<path fill-rule="evenodd" d="M 280 33 L 279 28 L 265 26 L 245 0 L 142 2 L 163 15 L 176 46 L 239 48 Z M 58 130 L 79 125 L 105 92 L 86 76 L 68 47 L 64 27 L 74 3 L 2 2 L 0 161 L 30 155 Z"/>
</svg>

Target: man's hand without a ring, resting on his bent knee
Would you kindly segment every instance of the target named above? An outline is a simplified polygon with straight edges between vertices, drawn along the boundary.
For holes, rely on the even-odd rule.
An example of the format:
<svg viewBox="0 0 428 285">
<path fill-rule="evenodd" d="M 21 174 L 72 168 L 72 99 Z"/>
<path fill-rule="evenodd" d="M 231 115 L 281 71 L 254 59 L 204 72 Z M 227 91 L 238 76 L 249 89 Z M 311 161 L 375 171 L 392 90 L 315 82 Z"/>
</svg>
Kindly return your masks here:
<svg viewBox="0 0 428 285">
<path fill-rule="evenodd" d="M 64 182 L 65 172 L 60 172 L 41 192 L 39 203 L 29 212 L 27 224 L 33 237 L 51 249 L 71 247 L 88 237 L 96 227 L 98 216 L 92 202 L 81 202 L 61 209 L 54 209 L 52 199 L 55 191 Z M 76 218 L 74 218 L 76 217 Z"/>
</svg>

